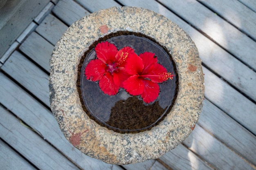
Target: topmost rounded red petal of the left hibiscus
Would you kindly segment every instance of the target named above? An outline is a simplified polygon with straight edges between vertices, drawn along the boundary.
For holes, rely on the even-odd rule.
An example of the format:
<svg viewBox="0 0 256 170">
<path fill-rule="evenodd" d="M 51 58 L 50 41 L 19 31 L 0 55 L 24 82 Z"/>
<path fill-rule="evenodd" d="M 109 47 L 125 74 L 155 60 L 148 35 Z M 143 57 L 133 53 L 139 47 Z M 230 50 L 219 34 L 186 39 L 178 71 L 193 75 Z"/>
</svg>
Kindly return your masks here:
<svg viewBox="0 0 256 170">
<path fill-rule="evenodd" d="M 107 64 L 107 61 L 115 61 L 115 56 L 118 52 L 117 47 L 110 42 L 101 42 L 95 47 L 97 58 L 103 63 Z"/>
</svg>

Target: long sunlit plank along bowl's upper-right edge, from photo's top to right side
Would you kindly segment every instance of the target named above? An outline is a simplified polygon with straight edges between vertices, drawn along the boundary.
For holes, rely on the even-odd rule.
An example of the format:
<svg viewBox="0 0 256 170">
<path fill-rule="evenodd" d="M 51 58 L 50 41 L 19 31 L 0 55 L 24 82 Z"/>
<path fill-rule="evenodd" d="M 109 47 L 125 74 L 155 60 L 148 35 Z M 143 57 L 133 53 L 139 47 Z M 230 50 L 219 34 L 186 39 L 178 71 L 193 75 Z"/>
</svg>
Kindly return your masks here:
<svg viewBox="0 0 256 170">
<path fill-rule="evenodd" d="M 154 0 L 119 0 L 119 2 L 126 6 L 136 5 L 137 7 L 153 10 L 177 23 L 184 31 L 189 33 L 195 42 L 204 64 L 256 101 L 256 91 L 253 85 L 256 83 L 256 73 L 227 53 L 227 51 L 221 49 L 218 45 Z"/>
</svg>

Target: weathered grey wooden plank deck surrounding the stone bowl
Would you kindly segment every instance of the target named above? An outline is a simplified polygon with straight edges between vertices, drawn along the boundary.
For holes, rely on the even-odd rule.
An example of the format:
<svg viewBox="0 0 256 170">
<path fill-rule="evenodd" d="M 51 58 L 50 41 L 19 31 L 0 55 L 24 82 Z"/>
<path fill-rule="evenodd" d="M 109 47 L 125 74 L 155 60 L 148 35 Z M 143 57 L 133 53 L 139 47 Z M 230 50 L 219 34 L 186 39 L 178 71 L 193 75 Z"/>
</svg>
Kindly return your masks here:
<svg viewBox="0 0 256 170">
<path fill-rule="evenodd" d="M 165 15 L 189 33 L 205 74 L 194 131 L 157 160 L 117 166 L 83 155 L 49 108 L 49 57 L 74 21 L 113 6 Z M 255 0 L 52 0 L 0 59 L 1 170 L 255 170 Z"/>
</svg>

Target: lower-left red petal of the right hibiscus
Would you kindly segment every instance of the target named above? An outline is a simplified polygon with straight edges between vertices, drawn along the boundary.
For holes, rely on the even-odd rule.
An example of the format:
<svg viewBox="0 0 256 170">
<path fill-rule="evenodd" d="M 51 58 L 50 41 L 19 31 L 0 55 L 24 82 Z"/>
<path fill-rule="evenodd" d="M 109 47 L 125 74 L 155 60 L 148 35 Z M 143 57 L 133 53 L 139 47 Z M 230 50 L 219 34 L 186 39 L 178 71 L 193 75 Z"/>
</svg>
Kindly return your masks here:
<svg viewBox="0 0 256 170">
<path fill-rule="evenodd" d="M 130 95 L 140 95 L 144 92 L 144 82 L 139 75 L 132 75 L 123 83 L 124 88 Z"/>
</svg>

